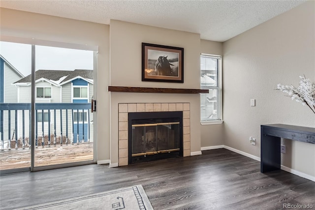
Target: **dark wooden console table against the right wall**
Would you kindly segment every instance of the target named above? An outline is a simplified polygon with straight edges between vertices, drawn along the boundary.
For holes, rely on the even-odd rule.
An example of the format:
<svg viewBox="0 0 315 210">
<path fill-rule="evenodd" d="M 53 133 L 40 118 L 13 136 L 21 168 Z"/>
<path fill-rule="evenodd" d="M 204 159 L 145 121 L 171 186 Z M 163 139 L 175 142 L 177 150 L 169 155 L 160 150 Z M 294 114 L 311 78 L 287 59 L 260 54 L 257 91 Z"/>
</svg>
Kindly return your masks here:
<svg viewBox="0 0 315 210">
<path fill-rule="evenodd" d="M 270 172 L 280 169 L 281 138 L 303 141 L 315 144 L 315 128 L 270 124 L 260 126 L 260 172 Z"/>
</svg>

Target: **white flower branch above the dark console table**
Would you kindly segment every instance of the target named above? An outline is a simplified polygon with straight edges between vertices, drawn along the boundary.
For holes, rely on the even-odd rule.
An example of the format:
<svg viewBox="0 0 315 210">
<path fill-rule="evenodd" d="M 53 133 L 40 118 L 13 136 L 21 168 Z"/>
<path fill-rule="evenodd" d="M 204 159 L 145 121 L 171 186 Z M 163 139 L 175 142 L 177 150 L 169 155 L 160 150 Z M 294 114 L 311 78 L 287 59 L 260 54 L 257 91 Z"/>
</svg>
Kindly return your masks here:
<svg viewBox="0 0 315 210">
<path fill-rule="evenodd" d="M 277 90 L 281 90 L 288 95 L 292 100 L 300 102 L 302 105 L 308 105 L 315 113 L 315 84 L 307 79 L 304 75 L 300 76 L 301 81 L 299 87 L 293 85 L 277 85 Z"/>
</svg>

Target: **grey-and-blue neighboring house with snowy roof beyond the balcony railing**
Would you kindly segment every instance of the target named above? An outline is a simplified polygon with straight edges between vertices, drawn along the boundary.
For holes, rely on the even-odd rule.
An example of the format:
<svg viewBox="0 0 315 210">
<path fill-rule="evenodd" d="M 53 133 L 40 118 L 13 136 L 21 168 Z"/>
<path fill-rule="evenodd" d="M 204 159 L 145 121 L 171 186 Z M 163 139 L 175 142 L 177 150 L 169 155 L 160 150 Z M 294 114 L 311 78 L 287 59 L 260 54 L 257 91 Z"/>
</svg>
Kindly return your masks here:
<svg viewBox="0 0 315 210">
<path fill-rule="evenodd" d="M 36 82 L 36 100 L 35 103 L 88 103 L 91 101 L 93 96 L 93 70 L 37 70 L 35 72 Z M 20 80 L 14 82 L 19 88 L 18 101 L 19 103 L 31 103 L 31 75 L 28 75 Z M 62 110 L 62 113 L 60 111 Z M 66 111 L 68 128 L 66 129 Z M 89 140 L 93 140 L 93 114 L 87 109 L 85 110 L 72 110 L 71 107 L 64 107 L 61 104 L 61 108 L 54 110 L 37 110 L 37 128 L 36 134 L 38 137 L 48 135 L 48 120 L 50 117 L 50 131 L 51 134 L 55 133 L 56 136 L 63 137 L 67 136 L 69 139 L 73 134 L 74 142 L 77 141 L 77 134 L 79 134 L 79 141 L 83 139 L 83 127 L 84 127 L 84 140 L 88 141 L 88 133 L 90 136 Z M 43 114 L 41 114 L 44 112 Z M 79 112 L 79 114 L 78 114 Z M 56 116 L 56 125 L 55 117 Z M 62 118 L 62 123 L 61 123 Z M 84 120 L 83 120 L 84 118 Z M 22 124 L 22 118 L 19 118 L 19 124 Z M 25 118 L 28 121 L 28 118 Z M 84 121 L 84 122 L 83 122 Z M 44 123 L 44 125 L 42 125 Z M 28 124 L 28 123 L 25 123 Z M 79 124 L 79 125 L 78 125 Z M 89 126 L 90 129 L 89 129 Z M 21 126 L 19 126 L 21 128 Z M 66 134 L 68 130 L 68 134 Z M 21 129 L 19 129 L 21 131 Z M 27 133 L 27 132 L 26 132 Z M 19 133 L 19 136 L 21 134 Z M 28 135 L 26 135 L 28 136 Z"/>
</svg>

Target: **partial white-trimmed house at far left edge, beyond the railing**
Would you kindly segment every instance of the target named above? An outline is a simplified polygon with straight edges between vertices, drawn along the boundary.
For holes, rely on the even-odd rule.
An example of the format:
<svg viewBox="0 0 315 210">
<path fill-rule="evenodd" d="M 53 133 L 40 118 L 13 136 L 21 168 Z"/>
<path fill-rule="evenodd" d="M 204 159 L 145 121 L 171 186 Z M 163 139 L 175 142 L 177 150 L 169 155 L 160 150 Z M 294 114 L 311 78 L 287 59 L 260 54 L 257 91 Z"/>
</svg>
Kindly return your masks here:
<svg viewBox="0 0 315 210">
<path fill-rule="evenodd" d="M 15 69 L 2 55 L 0 55 L 0 103 L 17 103 L 18 88 L 12 83 L 23 78 L 23 74 Z M 15 113 L 11 114 L 11 118 Z M 0 119 L 2 119 L 0 112 Z M 3 112 L 3 121 L 8 122 L 8 112 Z M 14 120 L 11 121 L 11 134 L 14 130 Z M 8 136 L 8 123 L 3 123 L 3 137 Z M 1 132 L 1 131 L 0 131 Z M 1 139 L 2 135 L 0 135 Z"/>
</svg>

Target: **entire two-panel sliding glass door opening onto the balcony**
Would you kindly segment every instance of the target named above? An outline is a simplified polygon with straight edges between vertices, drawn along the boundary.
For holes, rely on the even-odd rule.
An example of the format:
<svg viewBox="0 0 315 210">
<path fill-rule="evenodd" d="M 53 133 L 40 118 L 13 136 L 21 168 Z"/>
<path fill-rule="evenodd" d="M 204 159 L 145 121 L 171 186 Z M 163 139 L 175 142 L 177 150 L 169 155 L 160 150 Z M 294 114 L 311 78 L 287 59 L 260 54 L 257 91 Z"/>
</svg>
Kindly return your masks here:
<svg viewBox="0 0 315 210">
<path fill-rule="evenodd" d="M 15 45 L 24 46 L 1 41 L 3 55 L 9 50 L 6 48 Z M 1 174 L 18 168 L 38 171 L 93 163 L 91 99 L 96 52 L 44 45 L 24 47 L 29 48 L 28 56 L 11 58 L 8 54 L 12 62 L 0 53 L 1 65 L 6 62 L 1 74 L 5 80 L 0 101 Z M 24 60 L 28 68 L 17 65 Z M 14 72 L 17 75 L 13 76 Z"/>
</svg>

